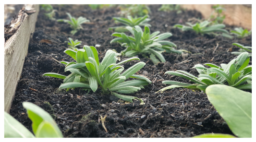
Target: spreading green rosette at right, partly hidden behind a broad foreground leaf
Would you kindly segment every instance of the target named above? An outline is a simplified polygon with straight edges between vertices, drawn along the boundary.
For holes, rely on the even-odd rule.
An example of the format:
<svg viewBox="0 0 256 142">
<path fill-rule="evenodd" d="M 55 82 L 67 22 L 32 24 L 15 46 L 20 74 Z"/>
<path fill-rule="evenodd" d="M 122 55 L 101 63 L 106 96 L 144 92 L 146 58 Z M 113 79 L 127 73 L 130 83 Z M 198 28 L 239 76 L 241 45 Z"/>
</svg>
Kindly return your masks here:
<svg viewBox="0 0 256 142">
<path fill-rule="evenodd" d="M 206 68 L 201 64 L 195 65 L 198 77 L 186 71 L 167 71 L 165 73 L 176 75 L 188 79 L 195 84 L 180 83 L 176 81 L 163 81 L 164 84 L 171 84 L 159 91 L 184 87 L 195 90 L 205 91 L 206 87 L 212 84 L 225 84 L 237 89 L 252 89 L 252 66 L 247 66 L 250 61 L 247 52 L 240 54 L 236 59 L 232 59 L 228 64 L 220 64 L 221 67 L 206 63 L 211 68 Z M 158 92 L 159 92 L 158 91 Z"/>
</svg>

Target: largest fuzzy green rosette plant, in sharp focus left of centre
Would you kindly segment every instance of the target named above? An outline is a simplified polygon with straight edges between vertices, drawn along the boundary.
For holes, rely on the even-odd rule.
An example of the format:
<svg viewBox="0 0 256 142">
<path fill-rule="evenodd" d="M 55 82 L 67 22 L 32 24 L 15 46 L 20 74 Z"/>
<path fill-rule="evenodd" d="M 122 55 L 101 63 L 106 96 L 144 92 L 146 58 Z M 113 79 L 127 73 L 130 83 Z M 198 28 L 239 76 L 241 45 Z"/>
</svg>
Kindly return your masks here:
<svg viewBox="0 0 256 142">
<path fill-rule="evenodd" d="M 67 49 L 64 52 L 76 60 L 76 62 L 61 61 L 66 65 L 65 71 L 70 71 L 71 74 L 68 76 L 52 72 L 43 74 L 43 76 L 64 79 L 59 89 L 67 88 L 68 90 L 69 88 L 82 87 L 95 92 L 98 88 L 101 88 L 104 93 L 111 92 L 112 95 L 129 102 L 133 102 L 132 99 L 138 99 L 143 104 L 143 100 L 137 97 L 118 94 L 134 93 L 144 88 L 144 85 L 151 83 L 146 77 L 134 74 L 145 66 L 146 63 L 144 62 L 136 63 L 121 74 L 124 70 L 121 66 L 123 63 L 134 59 L 140 60 L 139 58 L 130 58 L 116 63 L 117 56 L 120 54 L 108 50 L 101 63 L 99 63 L 97 49 L 92 46 L 84 46 L 83 49 L 77 51 Z M 128 78 L 139 80 L 126 81 Z"/>
</svg>

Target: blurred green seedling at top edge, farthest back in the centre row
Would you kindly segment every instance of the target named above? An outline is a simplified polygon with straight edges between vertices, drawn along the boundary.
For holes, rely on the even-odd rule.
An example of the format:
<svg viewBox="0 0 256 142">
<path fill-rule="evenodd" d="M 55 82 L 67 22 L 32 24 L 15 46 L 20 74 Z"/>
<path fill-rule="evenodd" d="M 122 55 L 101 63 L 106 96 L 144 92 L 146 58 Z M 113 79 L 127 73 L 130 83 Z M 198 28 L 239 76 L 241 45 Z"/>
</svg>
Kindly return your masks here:
<svg viewBox="0 0 256 142">
<path fill-rule="evenodd" d="M 122 4 L 119 8 L 121 9 L 120 15 L 122 16 L 141 17 L 151 13 L 149 7 L 145 4 Z"/>
</svg>

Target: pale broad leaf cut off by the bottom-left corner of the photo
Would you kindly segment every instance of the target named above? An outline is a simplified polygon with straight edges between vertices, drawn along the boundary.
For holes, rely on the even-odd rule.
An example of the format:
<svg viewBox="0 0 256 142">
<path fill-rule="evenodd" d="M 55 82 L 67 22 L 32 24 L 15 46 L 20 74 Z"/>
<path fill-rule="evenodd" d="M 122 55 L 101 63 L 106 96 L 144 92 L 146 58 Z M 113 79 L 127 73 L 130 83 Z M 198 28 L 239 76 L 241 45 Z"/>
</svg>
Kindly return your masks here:
<svg viewBox="0 0 256 142">
<path fill-rule="evenodd" d="M 4 137 L 5 138 L 35 138 L 19 121 L 7 112 L 4 112 Z"/>
</svg>

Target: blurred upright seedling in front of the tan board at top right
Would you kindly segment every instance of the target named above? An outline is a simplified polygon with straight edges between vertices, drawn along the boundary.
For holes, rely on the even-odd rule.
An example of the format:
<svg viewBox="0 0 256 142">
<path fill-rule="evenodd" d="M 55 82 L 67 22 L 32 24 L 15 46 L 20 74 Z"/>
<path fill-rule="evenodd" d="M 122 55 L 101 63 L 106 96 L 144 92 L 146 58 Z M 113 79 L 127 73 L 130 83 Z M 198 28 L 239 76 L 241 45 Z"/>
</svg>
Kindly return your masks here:
<svg viewBox="0 0 256 142">
<path fill-rule="evenodd" d="M 213 15 L 213 13 L 211 14 L 210 19 L 212 20 L 212 23 L 222 24 L 226 17 L 226 15 L 222 14 L 222 11 L 225 11 L 225 9 L 219 4 L 212 6 L 212 8 L 214 9 L 214 12 L 217 13 L 216 17 Z"/>
</svg>

